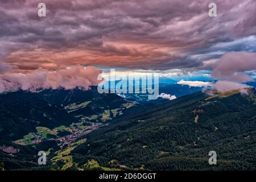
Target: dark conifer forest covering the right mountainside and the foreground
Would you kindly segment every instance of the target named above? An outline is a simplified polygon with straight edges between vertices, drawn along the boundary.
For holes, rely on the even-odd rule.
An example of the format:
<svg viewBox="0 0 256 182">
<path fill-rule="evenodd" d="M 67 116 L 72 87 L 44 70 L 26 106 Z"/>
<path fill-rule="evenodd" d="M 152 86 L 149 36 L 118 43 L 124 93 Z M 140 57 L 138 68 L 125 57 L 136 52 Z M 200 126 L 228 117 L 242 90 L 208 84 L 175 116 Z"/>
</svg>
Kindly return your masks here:
<svg viewBox="0 0 256 182">
<path fill-rule="evenodd" d="M 44 102 L 51 98 L 47 98 L 47 95 L 48 93 Z M 116 100 L 119 104 L 124 102 L 119 98 Z M 58 102 L 51 100 L 51 104 Z M 66 114 L 77 118 L 72 113 Z M 97 123 L 96 119 L 92 121 L 90 125 Z M 256 169 L 255 89 L 247 89 L 247 94 L 239 91 L 210 95 L 196 92 L 154 106 L 133 106 L 119 117 L 98 122 L 102 127 L 97 130 L 86 126 L 89 123 L 77 123 L 82 128 L 81 131 L 85 130 L 86 133 L 68 144 L 63 144 L 56 138 L 69 136 L 74 123 L 72 127 L 67 127 L 69 123 L 62 127 L 53 126 L 53 130 L 46 130 L 45 127 L 39 127 L 39 130 L 37 127 L 38 133 L 30 134 L 28 138 L 33 139 L 43 132 L 42 135 L 46 134 L 46 137 L 39 143 L 29 143 L 28 139 L 18 142 L 2 140 L 1 169 Z M 109 125 L 104 125 L 106 122 Z M 90 129 L 89 132 L 86 128 Z M 37 152 L 41 150 L 48 151 L 46 166 L 38 165 Z M 209 165 L 209 151 L 216 151 L 217 165 Z"/>
</svg>

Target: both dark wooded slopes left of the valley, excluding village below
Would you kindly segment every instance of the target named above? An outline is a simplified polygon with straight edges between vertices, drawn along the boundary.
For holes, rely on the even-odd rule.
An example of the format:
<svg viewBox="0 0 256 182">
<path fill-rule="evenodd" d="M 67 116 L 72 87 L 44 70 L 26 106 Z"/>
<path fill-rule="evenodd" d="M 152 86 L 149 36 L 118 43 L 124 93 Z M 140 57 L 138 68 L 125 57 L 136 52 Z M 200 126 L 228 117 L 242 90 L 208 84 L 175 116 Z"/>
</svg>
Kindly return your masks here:
<svg viewBox="0 0 256 182">
<path fill-rule="evenodd" d="M 0 94 L 0 140 L 20 139 L 35 132 L 39 126 L 49 129 L 69 126 L 81 118 L 97 116 L 125 103 L 116 94 L 99 94 L 96 87 L 91 90 L 59 89 Z"/>
</svg>

